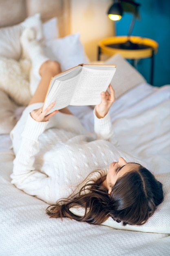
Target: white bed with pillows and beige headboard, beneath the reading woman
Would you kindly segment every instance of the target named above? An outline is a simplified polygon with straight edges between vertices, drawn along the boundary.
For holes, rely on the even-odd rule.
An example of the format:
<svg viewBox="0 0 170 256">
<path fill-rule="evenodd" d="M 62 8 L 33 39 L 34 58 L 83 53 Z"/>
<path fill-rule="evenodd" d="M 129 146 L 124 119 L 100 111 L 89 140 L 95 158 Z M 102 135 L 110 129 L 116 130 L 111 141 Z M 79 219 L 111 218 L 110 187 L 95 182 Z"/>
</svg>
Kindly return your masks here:
<svg viewBox="0 0 170 256">
<path fill-rule="evenodd" d="M 9 3 L 13 4 L 10 9 Z M 110 219 L 98 226 L 67 218 L 63 221 L 50 219 L 45 213 L 48 204 L 11 184 L 15 155 L 9 133 L 31 97 L 30 63 L 20 61 L 20 33 L 25 27 L 34 26 L 44 50 L 60 61 L 62 70 L 89 62 L 79 34 L 70 34 L 70 1 L 51 0 L 48 9 L 44 3 L 45 0 L 36 1 L 36 4 L 33 0 L 0 1 L 0 255 L 168 256 L 170 85 L 153 87 L 119 55 L 104 62 L 117 65 L 112 81 L 117 100 L 110 110 L 111 119 L 120 146 L 163 182 L 165 199 L 154 216 L 141 227 L 123 227 Z M 21 25 L 27 16 L 32 18 Z M 16 27 L 2 29 L 12 25 Z M 69 108 L 88 130 L 93 131 L 92 106 Z M 83 211 L 73 210 L 77 214 Z"/>
</svg>

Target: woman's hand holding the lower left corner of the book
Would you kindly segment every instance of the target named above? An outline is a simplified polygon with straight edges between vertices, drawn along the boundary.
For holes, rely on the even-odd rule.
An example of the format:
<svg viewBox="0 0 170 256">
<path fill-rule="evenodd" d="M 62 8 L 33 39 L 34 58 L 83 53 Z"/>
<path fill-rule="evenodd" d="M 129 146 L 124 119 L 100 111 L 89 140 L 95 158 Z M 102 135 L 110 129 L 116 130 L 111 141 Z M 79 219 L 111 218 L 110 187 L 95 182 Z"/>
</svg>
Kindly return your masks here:
<svg viewBox="0 0 170 256">
<path fill-rule="evenodd" d="M 47 113 L 51 110 L 51 108 L 53 108 L 53 106 L 55 105 L 55 101 L 53 103 L 51 103 L 46 109 L 42 110 L 42 108 L 38 108 L 35 110 L 32 110 L 30 115 L 31 117 L 37 121 L 37 122 L 46 122 L 49 121 L 49 119 L 55 115 L 58 110 L 54 110 L 53 112 L 51 112 L 49 115 L 47 115 Z"/>
</svg>

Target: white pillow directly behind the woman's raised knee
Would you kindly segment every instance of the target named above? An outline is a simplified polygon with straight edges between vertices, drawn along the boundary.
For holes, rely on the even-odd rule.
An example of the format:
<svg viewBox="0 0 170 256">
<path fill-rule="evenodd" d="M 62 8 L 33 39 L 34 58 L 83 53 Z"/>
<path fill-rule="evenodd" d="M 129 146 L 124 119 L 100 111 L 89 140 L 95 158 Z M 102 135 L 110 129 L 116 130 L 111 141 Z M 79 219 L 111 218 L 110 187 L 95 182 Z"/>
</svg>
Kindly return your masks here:
<svg viewBox="0 0 170 256">
<path fill-rule="evenodd" d="M 62 71 L 80 63 L 89 63 L 84 47 L 79 40 L 79 33 L 46 42 L 44 52 L 49 58 L 60 63 Z"/>
</svg>

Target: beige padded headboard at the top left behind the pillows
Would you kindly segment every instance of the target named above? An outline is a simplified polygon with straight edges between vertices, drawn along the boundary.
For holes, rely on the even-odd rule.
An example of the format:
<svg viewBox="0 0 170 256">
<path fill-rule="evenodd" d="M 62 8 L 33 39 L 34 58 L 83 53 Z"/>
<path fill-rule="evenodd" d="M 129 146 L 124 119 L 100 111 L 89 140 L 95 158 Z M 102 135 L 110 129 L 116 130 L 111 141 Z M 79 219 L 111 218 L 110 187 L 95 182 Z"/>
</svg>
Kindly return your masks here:
<svg viewBox="0 0 170 256">
<path fill-rule="evenodd" d="M 35 13 L 42 21 L 57 17 L 60 36 L 70 34 L 70 0 L 0 0 L 0 27 L 16 25 Z"/>
</svg>

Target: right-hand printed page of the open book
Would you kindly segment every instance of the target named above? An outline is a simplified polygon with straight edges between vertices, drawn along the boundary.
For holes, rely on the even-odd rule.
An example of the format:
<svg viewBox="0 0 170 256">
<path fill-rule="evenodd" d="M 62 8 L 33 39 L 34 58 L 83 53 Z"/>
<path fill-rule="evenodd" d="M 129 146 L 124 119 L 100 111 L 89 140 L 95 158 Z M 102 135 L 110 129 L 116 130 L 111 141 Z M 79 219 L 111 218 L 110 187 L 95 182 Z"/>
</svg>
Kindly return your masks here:
<svg viewBox="0 0 170 256">
<path fill-rule="evenodd" d="M 101 92 L 105 92 L 110 84 L 116 67 L 98 67 L 97 69 L 83 66 L 77 88 L 70 105 L 97 105 L 101 102 Z"/>
</svg>

